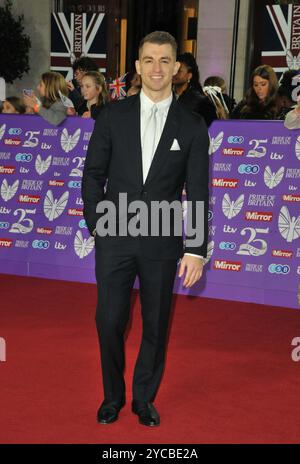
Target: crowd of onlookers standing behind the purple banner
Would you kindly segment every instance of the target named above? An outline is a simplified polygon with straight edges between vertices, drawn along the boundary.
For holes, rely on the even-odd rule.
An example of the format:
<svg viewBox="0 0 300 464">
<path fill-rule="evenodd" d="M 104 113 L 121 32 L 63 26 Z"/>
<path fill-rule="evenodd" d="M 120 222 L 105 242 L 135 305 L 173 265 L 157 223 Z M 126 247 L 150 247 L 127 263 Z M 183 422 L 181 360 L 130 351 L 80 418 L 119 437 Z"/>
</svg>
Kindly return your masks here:
<svg viewBox="0 0 300 464">
<path fill-rule="evenodd" d="M 173 78 L 174 95 L 179 104 L 200 114 L 208 127 L 215 119 L 281 119 L 286 120 L 287 127 L 299 126 L 300 107 L 295 101 L 299 71 L 286 71 L 279 84 L 270 66 L 258 66 L 244 98 L 236 104 L 227 94 L 221 76 L 209 76 L 201 85 L 198 65 L 191 53 L 179 55 L 177 61 L 180 68 Z M 39 114 L 54 125 L 72 115 L 96 119 L 101 108 L 111 100 L 104 75 L 91 58 L 84 56 L 73 63 L 73 76 L 72 81 L 66 81 L 60 73 L 43 73 L 36 91 L 24 89 L 22 96 L 7 97 L 0 112 Z M 125 98 L 139 92 L 141 85 L 140 75 L 136 71 L 128 72 Z"/>
</svg>

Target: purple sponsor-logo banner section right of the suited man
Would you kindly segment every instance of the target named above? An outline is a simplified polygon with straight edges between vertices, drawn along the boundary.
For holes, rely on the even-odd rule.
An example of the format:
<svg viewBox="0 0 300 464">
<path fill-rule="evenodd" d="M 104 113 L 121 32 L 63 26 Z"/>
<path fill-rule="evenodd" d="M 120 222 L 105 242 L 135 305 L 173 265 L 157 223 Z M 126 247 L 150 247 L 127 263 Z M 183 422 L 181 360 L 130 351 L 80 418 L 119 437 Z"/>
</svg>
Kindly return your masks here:
<svg viewBox="0 0 300 464">
<path fill-rule="evenodd" d="M 218 121 L 210 137 L 210 260 L 198 290 L 300 308 L 300 130 Z"/>
</svg>

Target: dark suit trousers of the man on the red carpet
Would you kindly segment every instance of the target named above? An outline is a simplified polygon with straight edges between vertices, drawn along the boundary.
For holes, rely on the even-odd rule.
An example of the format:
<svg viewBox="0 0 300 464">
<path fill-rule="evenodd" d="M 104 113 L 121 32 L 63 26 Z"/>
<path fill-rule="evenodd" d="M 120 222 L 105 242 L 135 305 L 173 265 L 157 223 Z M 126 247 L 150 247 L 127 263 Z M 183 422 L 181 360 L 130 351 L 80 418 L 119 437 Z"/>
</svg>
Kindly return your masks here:
<svg viewBox="0 0 300 464">
<path fill-rule="evenodd" d="M 116 239 L 115 247 L 107 247 L 105 239 L 96 237 L 96 326 L 106 401 L 121 404 L 126 397 L 124 332 L 136 276 L 140 283 L 143 331 L 132 395 L 134 400 L 154 401 L 165 365 L 176 270 L 175 259 L 143 256 L 138 237 Z"/>
</svg>

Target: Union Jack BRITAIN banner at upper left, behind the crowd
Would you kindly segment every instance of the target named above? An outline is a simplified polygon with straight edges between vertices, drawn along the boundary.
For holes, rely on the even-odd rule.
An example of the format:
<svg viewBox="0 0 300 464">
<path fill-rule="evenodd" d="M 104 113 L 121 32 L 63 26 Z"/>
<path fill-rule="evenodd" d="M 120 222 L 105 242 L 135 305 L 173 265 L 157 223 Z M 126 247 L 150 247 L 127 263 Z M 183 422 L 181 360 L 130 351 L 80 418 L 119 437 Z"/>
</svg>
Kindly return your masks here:
<svg viewBox="0 0 300 464">
<path fill-rule="evenodd" d="M 106 16 L 104 13 L 52 13 L 51 70 L 67 80 L 72 64 L 81 56 L 92 58 L 106 72 Z"/>
</svg>

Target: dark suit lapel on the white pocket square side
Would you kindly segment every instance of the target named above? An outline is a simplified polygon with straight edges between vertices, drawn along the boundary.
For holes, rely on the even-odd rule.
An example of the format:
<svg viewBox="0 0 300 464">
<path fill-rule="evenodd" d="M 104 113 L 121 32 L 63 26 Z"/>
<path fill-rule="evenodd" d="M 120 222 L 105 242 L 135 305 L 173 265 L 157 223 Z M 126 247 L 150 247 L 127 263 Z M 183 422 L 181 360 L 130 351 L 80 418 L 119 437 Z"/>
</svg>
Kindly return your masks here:
<svg viewBox="0 0 300 464">
<path fill-rule="evenodd" d="M 178 131 L 178 117 L 177 117 L 177 102 L 176 99 L 173 97 L 172 103 L 170 105 L 170 109 L 168 111 L 168 116 L 165 122 L 165 126 L 163 132 L 160 137 L 160 141 L 157 145 L 147 178 L 145 180 L 145 184 L 151 181 L 151 179 L 155 176 L 155 173 L 159 172 L 164 161 L 170 156 L 170 148 L 172 146 L 172 142 L 174 138 L 176 138 L 177 131 Z M 140 134 L 140 129 L 139 129 Z M 141 155 L 142 157 L 142 155 Z"/>
</svg>

